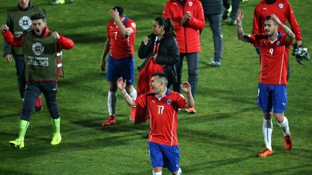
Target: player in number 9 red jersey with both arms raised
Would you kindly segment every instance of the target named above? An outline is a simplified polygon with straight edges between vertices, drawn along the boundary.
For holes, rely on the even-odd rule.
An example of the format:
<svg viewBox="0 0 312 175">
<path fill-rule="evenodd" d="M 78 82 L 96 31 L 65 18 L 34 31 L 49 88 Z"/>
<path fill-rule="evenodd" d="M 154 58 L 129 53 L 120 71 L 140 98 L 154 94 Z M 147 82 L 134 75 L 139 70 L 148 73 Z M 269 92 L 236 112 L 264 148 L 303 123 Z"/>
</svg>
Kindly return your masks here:
<svg viewBox="0 0 312 175">
<path fill-rule="evenodd" d="M 290 150 L 293 141 L 289 131 L 288 119 L 284 116 L 287 104 L 287 71 L 288 52 L 286 49 L 295 39 L 295 34 L 281 23 L 276 15 L 266 17 L 264 21 L 265 35 L 245 35 L 243 32 L 243 12 L 237 12 L 237 34 L 243 42 L 257 44 L 260 48 L 261 71 L 258 85 L 258 105 L 263 111 L 263 136 L 266 147 L 258 154 L 266 157 L 273 154 L 271 145 L 273 108 L 275 119 L 284 131 L 284 145 Z M 281 27 L 286 35 L 278 32 Z"/>
</svg>

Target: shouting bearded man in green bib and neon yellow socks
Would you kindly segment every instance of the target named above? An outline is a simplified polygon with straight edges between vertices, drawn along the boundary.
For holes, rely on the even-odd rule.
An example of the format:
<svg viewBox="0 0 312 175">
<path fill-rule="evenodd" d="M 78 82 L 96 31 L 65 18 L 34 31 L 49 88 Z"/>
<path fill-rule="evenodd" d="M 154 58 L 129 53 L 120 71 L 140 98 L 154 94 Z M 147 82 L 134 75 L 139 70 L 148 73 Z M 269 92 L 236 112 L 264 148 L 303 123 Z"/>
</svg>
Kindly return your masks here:
<svg viewBox="0 0 312 175">
<path fill-rule="evenodd" d="M 51 145 L 58 145 L 61 142 L 60 113 L 56 102 L 56 94 L 58 93 L 56 53 L 61 49 L 73 48 L 71 39 L 63 37 L 56 31 L 51 32 L 49 30 L 44 15 L 32 15 L 31 20 L 31 31 L 25 31 L 19 37 L 14 37 L 8 26 L 1 26 L 3 38 L 8 44 L 23 48 L 26 63 L 27 84 L 19 122 L 19 137 L 9 142 L 12 147 L 19 149 L 24 147 L 24 137 L 31 120 L 33 104 L 35 104 L 40 93 L 43 93 L 46 98 L 46 105 L 53 121 L 54 133 L 50 143 Z"/>
</svg>

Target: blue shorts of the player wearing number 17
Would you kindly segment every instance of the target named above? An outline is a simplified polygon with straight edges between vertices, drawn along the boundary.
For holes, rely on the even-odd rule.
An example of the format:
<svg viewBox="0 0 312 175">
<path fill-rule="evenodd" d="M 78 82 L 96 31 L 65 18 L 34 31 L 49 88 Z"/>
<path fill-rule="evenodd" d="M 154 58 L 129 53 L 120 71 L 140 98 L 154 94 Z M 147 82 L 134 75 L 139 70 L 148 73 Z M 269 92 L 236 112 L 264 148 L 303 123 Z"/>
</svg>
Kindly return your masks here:
<svg viewBox="0 0 312 175">
<path fill-rule="evenodd" d="M 150 151 L 150 162 L 153 167 L 166 167 L 170 172 L 179 170 L 179 146 L 148 142 L 148 149 Z"/>
</svg>

